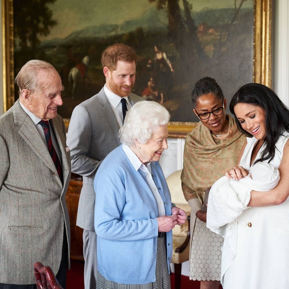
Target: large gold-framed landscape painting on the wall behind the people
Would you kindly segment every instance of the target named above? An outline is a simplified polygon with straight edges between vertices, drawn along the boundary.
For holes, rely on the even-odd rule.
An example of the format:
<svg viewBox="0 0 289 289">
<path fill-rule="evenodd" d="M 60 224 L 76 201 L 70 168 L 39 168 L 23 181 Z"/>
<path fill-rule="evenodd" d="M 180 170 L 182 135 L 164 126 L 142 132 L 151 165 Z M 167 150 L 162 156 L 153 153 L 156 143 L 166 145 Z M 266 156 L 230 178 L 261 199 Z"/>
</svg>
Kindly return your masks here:
<svg viewBox="0 0 289 289">
<path fill-rule="evenodd" d="M 104 85 L 105 47 L 123 42 L 138 54 L 134 93 L 171 113 L 171 136 L 197 118 L 190 95 L 204 76 L 229 103 L 243 84 L 271 86 L 271 0 L 2 0 L 4 109 L 18 97 L 13 78 L 25 62 L 43 59 L 65 90 L 59 114 Z"/>
</svg>

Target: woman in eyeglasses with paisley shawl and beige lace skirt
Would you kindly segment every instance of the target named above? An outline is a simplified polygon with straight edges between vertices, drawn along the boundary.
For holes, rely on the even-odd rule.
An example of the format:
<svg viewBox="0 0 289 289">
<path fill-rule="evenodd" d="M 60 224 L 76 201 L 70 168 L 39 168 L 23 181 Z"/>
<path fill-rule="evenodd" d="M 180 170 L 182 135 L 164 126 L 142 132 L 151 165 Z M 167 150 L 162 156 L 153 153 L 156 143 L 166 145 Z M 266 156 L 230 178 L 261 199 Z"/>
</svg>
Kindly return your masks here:
<svg viewBox="0 0 289 289">
<path fill-rule="evenodd" d="M 200 125 L 187 135 L 181 174 L 184 196 L 192 208 L 190 279 L 201 281 L 200 289 L 217 289 L 223 238 L 206 227 L 204 192 L 236 164 L 246 137 L 225 113 L 227 102 L 215 79 L 197 81 L 192 103 Z"/>
</svg>

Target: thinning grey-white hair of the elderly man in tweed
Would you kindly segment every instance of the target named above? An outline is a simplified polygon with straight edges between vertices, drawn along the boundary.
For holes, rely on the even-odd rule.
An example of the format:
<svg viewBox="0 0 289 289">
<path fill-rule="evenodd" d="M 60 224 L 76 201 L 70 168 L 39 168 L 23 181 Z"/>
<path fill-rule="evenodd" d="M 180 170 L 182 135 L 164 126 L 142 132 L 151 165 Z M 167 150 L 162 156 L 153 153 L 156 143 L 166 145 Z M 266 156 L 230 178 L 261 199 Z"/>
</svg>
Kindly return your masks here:
<svg viewBox="0 0 289 289">
<path fill-rule="evenodd" d="M 39 89 L 37 84 L 37 72 L 40 69 L 56 71 L 49 62 L 38 59 L 29 60 L 22 66 L 14 80 L 19 88 L 19 95 L 22 94 L 23 89 L 29 89 L 31 93 L 34 92 L 34 90 L 37 91 Z"/>
</svg>

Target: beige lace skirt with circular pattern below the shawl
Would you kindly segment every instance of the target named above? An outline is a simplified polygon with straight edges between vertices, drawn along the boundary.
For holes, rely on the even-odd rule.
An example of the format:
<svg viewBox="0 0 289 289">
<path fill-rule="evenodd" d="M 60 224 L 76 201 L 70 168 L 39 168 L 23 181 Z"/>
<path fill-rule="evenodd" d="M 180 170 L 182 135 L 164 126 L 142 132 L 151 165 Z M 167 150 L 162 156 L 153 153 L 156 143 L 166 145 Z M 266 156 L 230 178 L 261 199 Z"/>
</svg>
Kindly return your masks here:
<svg viewBox="0 0 289 289">
<path fill-rule="evenodd" d="M 190 280 L 220 281 L 221 247 L 224 239 L 196 219 L 192 236 Z"/>
</svg>

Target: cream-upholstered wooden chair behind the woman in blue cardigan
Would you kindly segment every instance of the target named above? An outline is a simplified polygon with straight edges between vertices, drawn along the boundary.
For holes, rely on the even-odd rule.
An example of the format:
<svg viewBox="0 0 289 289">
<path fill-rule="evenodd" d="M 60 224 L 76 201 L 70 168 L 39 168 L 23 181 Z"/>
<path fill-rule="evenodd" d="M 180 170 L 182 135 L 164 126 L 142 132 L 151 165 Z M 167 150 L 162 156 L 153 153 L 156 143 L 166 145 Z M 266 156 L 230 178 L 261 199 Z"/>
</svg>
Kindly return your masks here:
<svg viewBox="0 0 289 289">
<path fill-rule="evenodd" d="M 175 269 L 175 289 L 181 288 L 181 264 L 189 260 L 190 255 L 190 213 L 191 207 L 184 198 L 181 188 L 181 171 L 176 171 L 166 179 L 171 192 L 172 203 L 183 209 L 187 214 L 187 221 L 173 229 L 172 263 Z"/>
</svg>

